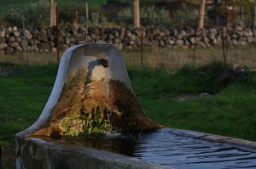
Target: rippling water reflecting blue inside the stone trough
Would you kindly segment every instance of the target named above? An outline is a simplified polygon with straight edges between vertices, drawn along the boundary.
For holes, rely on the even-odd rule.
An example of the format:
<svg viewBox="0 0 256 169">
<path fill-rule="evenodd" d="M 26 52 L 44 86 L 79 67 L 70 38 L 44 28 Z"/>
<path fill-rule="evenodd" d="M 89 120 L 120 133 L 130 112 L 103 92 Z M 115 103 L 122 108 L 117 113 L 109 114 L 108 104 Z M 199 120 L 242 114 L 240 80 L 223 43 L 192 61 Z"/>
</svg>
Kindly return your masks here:
<svg viewBox="0 0 256 169">
<path fill-rule="evenodd" d="M 177 135 L 170 128 L 137 134 L 107 134 L 102 138 L 61 138 L 51 141 L 105 149 L 177 169 L 256 168 L 256 150 Z"/>
</svg>

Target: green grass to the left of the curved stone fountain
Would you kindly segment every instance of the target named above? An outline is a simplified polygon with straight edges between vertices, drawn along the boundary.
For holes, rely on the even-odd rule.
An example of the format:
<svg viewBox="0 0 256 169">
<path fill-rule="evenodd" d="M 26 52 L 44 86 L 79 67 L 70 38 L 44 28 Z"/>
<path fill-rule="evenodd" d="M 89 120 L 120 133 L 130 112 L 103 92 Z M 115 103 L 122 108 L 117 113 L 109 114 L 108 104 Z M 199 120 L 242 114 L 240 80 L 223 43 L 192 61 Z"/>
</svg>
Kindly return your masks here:
<svg viewBox="0 0 256 169">
<path fill-rule="evenodd" d="M 13 141 L 16 132 L 35 122 L 55 82 L 56 68 L 20 66 L 16 75 L 0 77 L 0 140 Z"/>
</svg>

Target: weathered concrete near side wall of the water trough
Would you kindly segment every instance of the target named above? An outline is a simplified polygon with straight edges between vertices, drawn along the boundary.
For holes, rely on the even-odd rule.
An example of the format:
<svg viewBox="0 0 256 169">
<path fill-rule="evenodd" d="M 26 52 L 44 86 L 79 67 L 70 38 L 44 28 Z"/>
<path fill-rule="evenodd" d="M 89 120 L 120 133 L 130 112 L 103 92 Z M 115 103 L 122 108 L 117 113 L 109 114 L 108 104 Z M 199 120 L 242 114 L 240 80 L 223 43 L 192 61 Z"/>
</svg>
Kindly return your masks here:
<svg viewBox="0 0 256 169">
<path fill-rule="evenodd" d="M 50 138 L 18 138 L 16 169 L 168 169 L 105 150 L 60 144 Z"/>
</svg>

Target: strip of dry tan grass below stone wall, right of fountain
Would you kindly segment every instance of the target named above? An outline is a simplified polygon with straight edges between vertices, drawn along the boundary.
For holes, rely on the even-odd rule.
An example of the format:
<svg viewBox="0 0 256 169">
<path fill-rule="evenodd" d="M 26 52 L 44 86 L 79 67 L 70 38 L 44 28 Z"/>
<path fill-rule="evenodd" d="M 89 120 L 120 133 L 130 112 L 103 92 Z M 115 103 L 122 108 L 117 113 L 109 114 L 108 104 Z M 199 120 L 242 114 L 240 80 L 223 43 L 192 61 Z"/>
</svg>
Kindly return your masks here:
<svg viewBox="0 0 256 169">
<path fill-rule="evenodd" d="M 205 65 L 212 61 L 223 61 L 221 47 L 212 48 L 143 48 L 142 50 L 125 50 L 123 55 L 127 63 L 141 65 L 143 55 L 143 65 L 166 70 L 177 70 L 185 64 L 195 63 Z M 228 64 L 247 65 L 256 67 L 256 46 L 230 46 L 228 50 Z M 195 58 L 195 59 L 194 59 Z"/>
</svg>

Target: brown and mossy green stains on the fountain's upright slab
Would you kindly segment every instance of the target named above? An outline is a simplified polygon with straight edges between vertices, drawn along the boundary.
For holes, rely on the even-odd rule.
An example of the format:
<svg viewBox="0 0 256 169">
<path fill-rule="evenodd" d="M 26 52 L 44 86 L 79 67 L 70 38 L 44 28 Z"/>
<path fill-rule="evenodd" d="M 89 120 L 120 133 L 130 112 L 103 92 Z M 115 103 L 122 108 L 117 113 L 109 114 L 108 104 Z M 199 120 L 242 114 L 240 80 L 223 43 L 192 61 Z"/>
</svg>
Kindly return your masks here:
<svg viewBox="0 0 256 169">
<path fill-rule="evenodd" d="M 87 74 L 79 69 L 75 76 L 67 77 L 49 121 L 31 135 L 58 138 L 160 127 L 148 119 L 125 84 L 109 79 L 107 91 L 105 78 L 96 81 Z"/>
</svg>

